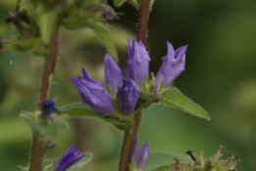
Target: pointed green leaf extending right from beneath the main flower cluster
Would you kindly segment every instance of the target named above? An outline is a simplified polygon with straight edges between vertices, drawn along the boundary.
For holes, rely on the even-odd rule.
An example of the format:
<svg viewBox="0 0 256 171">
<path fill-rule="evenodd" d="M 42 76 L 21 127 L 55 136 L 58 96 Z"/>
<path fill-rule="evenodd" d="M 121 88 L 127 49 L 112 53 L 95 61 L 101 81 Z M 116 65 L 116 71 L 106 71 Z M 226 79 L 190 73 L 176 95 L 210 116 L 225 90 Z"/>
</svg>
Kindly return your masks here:
<svg viewBox="0 0 256 171">
<path fill-rule="evenodd" d="M 211 120 L 208 112 L 202 107 L 198 106 L 187 97 L 185 97 L 175 87 L 167 90 L 160 95 L 160 104 L 167 105 L 169 107 L 179 108 L 180 110 L 198 116 L 207 120 Z"/>
</svg>

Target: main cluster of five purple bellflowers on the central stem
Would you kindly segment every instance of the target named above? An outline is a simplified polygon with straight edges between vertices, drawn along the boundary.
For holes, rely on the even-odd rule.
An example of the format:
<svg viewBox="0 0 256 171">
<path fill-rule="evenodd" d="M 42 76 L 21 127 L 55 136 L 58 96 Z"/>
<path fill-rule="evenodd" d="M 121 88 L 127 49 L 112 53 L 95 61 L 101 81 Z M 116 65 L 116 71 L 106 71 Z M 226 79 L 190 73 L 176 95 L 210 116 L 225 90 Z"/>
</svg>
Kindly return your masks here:
<svg viewBox="0 0 256 171">
<path fill-rule="evenodd" d="M 187 46 L 182 46 L 175 51 L 173 45 L 168 42 L 168 54 L 163 58 L 163 64 L 155 79 L 155 87 L 170 85 L 184 70 L 186 48 Z M 144 83 L 148 75 L 149 62 L 149 54 L 140 40 L 128 39 L 126 78 L 123 78 L 122 70 L 109 54 L 104 57 L 106 83 L 118 94 L 119 109 L 123 115 L 130 114 L 136 106 L 141 94 L 139 85 Z M 84 68 L 81 71 L 83 76 L 72 77 L 72 80 L 77 85 L 82 102 L 100 113 L 114 113 L 116 108 L 113 99 L 102 82 L 91 79 Z"/>
</svg>

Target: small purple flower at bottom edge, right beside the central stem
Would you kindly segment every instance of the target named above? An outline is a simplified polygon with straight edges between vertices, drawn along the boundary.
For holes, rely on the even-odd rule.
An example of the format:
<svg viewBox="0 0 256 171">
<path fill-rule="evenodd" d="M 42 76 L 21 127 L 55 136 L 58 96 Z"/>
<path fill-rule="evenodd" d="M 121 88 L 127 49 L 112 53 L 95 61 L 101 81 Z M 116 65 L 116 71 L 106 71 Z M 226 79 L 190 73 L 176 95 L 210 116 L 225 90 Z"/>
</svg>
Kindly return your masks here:
<svg viewBox="0 0 256 171">
<path fill-rule="evenodd" d="M 134 162 L 135 168 L 137 170 L 142 170 L 146 164 L 147 160 L 150 154 L 150 148 L 149 143 L 145 142 L 144 145 L 138 150 L 138 137 L 136 137 L 136 140 L 133 145 L 133 151 L 132 151 L 132 160 Z"/>
</svg>

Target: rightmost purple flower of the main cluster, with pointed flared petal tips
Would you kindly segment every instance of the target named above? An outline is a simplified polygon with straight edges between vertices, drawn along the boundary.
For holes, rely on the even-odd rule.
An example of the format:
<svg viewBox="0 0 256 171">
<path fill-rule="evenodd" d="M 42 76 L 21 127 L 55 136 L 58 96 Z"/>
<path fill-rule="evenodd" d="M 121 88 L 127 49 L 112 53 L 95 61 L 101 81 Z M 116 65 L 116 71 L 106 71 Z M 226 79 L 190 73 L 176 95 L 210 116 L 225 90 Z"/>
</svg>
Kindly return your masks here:
<svg viewBox="0 0 256 171">
<path fill-rule="evenodd" d="M 162 59 L 163 63 L 156 76 L 155 85 L 157 86 L 164 83 L 163 87 L 167 87 L 184 70 L 187 45 L 181 46 L 175 51 L 173 45 L 170 42 L 167 42 L 167 47 L 167 55 Z"/>
</svg>

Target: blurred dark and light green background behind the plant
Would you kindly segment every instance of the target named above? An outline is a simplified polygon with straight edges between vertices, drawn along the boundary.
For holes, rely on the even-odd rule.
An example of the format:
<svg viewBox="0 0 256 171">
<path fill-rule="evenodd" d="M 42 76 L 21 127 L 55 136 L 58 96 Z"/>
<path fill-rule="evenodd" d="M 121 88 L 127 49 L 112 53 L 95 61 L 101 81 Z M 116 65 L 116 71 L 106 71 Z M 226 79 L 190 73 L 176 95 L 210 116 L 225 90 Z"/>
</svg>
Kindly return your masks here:
<svg viewBox="0 0 256 171">
<path fill-rule="evenodd" d="M 0 36 L 15 0 L 0 0 Z M 112 1 L 110 1 L 112 4 Z M 150 70 L 157 73 L 166 55 L 166 41 L 175 48 L 188 44 L 186 69 L 175 86 L 204 107 L 212 120 L 192 117 L 177 109 L 154 106 L 145 110 L 139 131 L 140 144 L 149 141 L 151 150 L 185 154 L 186 150 L 211 156 L 219 148 L 240 157 L 239 169 L 256 170 L 256 1 L 255 0 L 156 0 L 150 15 L 148 42 Z M 127 38 L 136 33 L 136 11 L 128 4 L 125 13 L 111 21 L 120 65 L 128 59 Z M 8 31 L 10 32 L 10 31 Z M 98 80 L 104 79 L 106 50 L 90 30 L 62 30 L 60 55 L 52 99 L 57 107 L 80 101 L 71 76 L 81 75 L 84 66 Z M 42 57 L 4 51 L 0 59 L 0 166 L 19 170 L 29 160 L 31 136 L 19 117 L 22 110 L 36 108 L 43 66 Z M 92 151 L 86 170 L 117 170 L 122 133 L 95 119 L 70 119 L 70 128 L 57 140 L 58 148 L 46 158 L 59 157 L 74 142 Z M 80 136 L 83 135 L 83 136 Z"/>
</svg>

